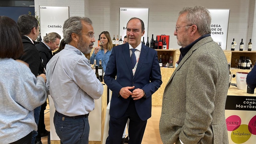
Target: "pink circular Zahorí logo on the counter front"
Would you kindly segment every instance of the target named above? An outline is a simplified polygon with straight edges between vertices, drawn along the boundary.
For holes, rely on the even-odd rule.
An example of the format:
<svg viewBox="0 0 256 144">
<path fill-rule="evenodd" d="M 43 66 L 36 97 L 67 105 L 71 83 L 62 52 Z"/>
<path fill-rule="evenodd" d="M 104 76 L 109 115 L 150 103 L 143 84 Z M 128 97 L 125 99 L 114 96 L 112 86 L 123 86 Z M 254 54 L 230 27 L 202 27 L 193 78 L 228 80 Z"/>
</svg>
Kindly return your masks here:
<svg viewBox="0 0 256 144">
<path fill-rule="evenodd" d="M 233 131 L 239 128 L 241 125 L 241 118 L 239 116 L 233 115 L 226 118 L 226 125 L 228 131 Z"/>
</svg>

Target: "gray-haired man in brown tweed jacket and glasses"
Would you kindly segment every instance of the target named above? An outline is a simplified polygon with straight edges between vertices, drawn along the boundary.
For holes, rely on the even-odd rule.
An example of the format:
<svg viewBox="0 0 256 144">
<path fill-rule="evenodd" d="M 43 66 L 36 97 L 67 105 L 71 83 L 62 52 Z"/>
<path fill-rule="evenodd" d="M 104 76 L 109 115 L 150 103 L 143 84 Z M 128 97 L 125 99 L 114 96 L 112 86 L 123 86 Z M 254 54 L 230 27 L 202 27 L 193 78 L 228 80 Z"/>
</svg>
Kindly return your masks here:
<svg viewBox="0 0 256 144">
<path fill-rule="evenodd" d="M 174 35 L 181 54 L 165 87 L 159 124 L 164 144 L 228 144 L 228 63 L 210 37 L 210 24 L 210 13 L 202 6 L 179 14 Z"/>
</svg>

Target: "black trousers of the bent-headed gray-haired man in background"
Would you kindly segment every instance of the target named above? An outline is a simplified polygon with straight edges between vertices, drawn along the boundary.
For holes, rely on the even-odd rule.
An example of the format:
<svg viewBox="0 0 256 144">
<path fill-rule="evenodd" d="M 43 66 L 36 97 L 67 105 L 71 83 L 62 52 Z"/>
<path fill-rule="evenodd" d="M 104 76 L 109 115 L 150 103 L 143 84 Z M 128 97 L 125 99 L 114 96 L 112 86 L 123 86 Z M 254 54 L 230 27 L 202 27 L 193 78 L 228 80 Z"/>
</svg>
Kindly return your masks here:
<svg viewBox="0 0 256 144">
<path fill-rule="evenodd" d="M 35 142 L 41 141 L 41 133 L 45 133 L 46 132 L 46 127 L 44 124 L 44 110 L 46 110 L 46 106 L 47 106 L 47 102 L 43 103 L 43 105 L 41 105 L 41 110 L 40 110 L 40 114 L 39 114 L 39 122 L 38 122 L 38 126 L 37 126 L 37 136 L 36 136 L 36 140 Z"/>
</svg>

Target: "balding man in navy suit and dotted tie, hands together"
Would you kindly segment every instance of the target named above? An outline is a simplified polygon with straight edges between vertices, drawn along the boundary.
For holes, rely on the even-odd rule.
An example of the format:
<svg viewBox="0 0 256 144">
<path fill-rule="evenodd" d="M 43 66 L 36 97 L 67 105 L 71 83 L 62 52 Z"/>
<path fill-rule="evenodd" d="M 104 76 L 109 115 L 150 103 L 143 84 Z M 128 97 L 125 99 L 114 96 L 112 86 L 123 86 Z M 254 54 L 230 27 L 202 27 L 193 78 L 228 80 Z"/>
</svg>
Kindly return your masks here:
<svg viewBox="0 0 256 144">
<path fill-rule="evenodd" d="M 129 143 L 140 144 L 151 117 L 151 96 L 162 84 L 156 50 L 141 42 L 144 22 L 131 18 L 127 23 L 128 43 L 112 49 L 104 82 L 112 91 L 106 144 L 120 144 L 127 119 Z"/>
</svg>

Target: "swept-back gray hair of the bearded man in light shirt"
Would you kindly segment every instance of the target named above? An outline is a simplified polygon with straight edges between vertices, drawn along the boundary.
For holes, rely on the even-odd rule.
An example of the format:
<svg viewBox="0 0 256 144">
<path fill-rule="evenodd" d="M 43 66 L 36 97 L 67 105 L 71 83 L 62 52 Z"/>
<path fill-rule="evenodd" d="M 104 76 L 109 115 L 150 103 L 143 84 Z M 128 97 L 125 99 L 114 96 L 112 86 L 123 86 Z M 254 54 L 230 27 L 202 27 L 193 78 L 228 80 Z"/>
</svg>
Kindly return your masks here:
<svg viewBox="0 0 256 144">
<path fill-rule="evenodd" d="M 88 25 L 92 25 L 92 21 L 90 20 L 90 18 L 79 16 L 70 17 L 64 22 L 63 37 L 66 43 L 70 43 L 72 41 L 72 33 L 81 35 L 82 21 L 87 23 Z"/>
</svg>

